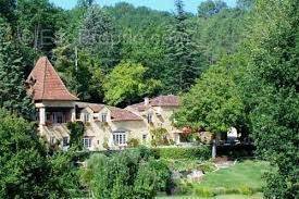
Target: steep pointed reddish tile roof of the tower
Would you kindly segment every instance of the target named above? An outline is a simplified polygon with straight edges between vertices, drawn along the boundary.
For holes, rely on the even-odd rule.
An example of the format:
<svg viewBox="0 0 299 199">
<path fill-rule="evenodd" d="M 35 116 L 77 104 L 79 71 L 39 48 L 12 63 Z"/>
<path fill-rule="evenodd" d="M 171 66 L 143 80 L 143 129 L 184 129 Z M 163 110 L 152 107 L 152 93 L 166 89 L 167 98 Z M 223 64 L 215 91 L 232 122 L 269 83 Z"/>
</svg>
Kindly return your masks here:
<svg viewBox="0 0 299 199">
<path fill-rule="evenodd" d="M 26 83 L 32 85 L 29 92 L 34 100 L 78 100 L 67 90 L 47 57 L 37 61 Z"/>
</svg>

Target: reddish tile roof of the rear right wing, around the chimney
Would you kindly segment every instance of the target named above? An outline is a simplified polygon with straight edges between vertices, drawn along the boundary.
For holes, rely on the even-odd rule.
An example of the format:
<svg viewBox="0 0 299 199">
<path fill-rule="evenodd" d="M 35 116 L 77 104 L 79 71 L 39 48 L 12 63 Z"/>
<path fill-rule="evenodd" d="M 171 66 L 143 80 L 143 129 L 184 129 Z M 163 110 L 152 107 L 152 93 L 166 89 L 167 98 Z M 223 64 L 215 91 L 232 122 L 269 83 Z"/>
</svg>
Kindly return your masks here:
<svg viewBox="0 0 299 199">
<path fill-rule="evenodd" d="M 159 96 L 157 98 L 149 100 L 148 107 L 178 107 L 179 105 L 179 99 L 177 96 L 169 95 L 169 96 Z M 147 105 L 145 102 L 135 103 L 129 105 L 128 108 L 144 111 L 147 109 Z"/>
</svg>

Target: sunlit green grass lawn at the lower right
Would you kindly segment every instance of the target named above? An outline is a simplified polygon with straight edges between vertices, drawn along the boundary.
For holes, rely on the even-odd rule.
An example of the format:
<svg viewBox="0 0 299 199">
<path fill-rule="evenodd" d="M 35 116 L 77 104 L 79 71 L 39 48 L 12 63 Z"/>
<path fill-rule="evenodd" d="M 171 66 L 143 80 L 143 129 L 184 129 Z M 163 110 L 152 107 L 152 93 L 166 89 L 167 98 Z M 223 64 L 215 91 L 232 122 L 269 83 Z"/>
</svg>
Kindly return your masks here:
<svg viewBox="0 0 299 199">
<path fill-rule="evenodd" d="M 228 169 L 205 174 L 199 183 L 183 181 L 179 187 L 187 196 L 171 198 L 260 199 L 262 174 L 267 170 L 270 165 L 263 161 L 237 162 Z"/>
</svg>

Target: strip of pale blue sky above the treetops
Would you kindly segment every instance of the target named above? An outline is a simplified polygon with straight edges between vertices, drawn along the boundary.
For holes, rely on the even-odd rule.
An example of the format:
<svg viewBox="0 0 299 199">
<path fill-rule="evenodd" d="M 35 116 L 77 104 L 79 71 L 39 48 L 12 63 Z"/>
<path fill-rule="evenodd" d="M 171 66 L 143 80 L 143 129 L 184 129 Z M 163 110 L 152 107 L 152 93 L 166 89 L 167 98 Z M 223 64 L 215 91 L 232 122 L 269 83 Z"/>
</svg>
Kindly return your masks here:
<svg viewBox="0 0 299 199">
<path fill-rule="evenodd" d="M 117 2 L 126 1 L 136 7 L 145 5 L 154 10 L 161 11 L 174 11 L 174 0 L 97 0 L 97 2 L 101 5 L 113 5 Z M 204 0 L 185 0 L 185 9 L 188 12 L 196 13 L 197 7 Z M 224 0 L 229 7 L 234 7 L 236 4 L 236 0 Z M 77 0 L 50 0 L 54 4 L 63 8 L 63 9 L 72 9 Z"/>
</svg>

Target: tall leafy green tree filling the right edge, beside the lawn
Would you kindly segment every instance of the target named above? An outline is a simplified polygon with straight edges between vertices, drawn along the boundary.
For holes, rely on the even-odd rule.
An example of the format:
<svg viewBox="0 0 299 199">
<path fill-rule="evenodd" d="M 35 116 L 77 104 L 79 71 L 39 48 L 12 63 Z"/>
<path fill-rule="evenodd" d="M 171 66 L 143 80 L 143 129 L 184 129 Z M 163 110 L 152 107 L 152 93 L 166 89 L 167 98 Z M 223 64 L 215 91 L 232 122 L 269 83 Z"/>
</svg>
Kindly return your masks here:
<svg viewBox="0 0 299 199">
<path fill-rule="evenodd" d="M 265 198 L 298 198 L 299 1 L 258 0 L 244 86 L 257 152 L 278 170 L 266 175 Z"/>
</svg>

